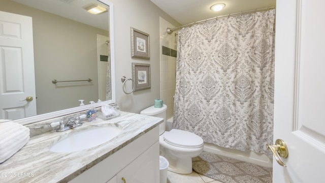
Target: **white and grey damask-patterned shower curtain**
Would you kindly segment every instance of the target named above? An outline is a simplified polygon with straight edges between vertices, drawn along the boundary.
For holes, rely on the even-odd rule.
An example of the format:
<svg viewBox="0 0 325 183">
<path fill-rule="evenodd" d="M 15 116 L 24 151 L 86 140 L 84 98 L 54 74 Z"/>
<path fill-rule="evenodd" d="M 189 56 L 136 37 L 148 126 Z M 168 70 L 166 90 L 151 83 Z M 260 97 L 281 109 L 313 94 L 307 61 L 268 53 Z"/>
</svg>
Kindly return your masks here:
<svg viewBox="0 0 325 183">
<path fill-rule="evenodd" d="M 275 9 L 178 33 L 173 128 L 272 157 Z"/>
</svg>

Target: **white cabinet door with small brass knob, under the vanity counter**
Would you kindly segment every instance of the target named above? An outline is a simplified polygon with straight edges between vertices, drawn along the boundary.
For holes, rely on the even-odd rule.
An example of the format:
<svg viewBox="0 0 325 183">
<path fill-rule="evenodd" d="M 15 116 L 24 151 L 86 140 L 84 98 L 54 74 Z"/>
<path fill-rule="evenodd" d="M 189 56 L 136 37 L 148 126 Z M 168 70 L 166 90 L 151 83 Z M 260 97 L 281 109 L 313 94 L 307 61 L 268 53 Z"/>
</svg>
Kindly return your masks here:
<svg viewBox="0 0 325 183">
<path fill-rule="evenodd" d="M 159 142 L 152 145 L 117 174 L 117 183 L 125 182 L 159 182 Z"/>
</svg>

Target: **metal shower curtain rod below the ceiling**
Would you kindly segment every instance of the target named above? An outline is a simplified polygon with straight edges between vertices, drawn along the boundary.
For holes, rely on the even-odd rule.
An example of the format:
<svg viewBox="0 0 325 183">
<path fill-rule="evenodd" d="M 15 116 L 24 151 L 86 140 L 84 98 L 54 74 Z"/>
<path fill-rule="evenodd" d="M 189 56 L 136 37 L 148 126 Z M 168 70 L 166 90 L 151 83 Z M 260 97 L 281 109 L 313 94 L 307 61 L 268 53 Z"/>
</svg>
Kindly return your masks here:
<svg viewBox="0 0 325 183">
<path fill-rule="evenodd" d="M 237 13 L 230 13 L 228 15 L 216 16 L 216 17 L 213 17 L 213 18 L 208 18 L 208 19 L 205 19 L 205 20 L 200 20 L 200 21 L 188 23 L 186 25 L 182 25 L 182 26 L 175 27 L 175 28 L 167 28 L 166 31 L 167 31 L 168 34 L 172 34 L 174 31 L 178 31 L 179 29 L 181 29 L 183 27 L 192 26 L 192 25 L 196 25 L 196 24 L 201 24 L 201 23 L 204 23 L 206 21 L 217 20 L 217 19 L 222 19 L 222 18 L 229 18 L 231 16 L 237 16 L 237 15 L 243 15 L 243 14 L 249 14 L 249 13 L 262 12 L 262 11 L 267 11 L 267 10 L 271 10 L 271 9 L 275 9 L 275 6 L 272 6 L 272 7 L 269 7 L 269 8 L 261 8 L 261 9 L 255 9 L 255 10 L 241 11 L 241 12 L 237 12 Z"/>
</svg>

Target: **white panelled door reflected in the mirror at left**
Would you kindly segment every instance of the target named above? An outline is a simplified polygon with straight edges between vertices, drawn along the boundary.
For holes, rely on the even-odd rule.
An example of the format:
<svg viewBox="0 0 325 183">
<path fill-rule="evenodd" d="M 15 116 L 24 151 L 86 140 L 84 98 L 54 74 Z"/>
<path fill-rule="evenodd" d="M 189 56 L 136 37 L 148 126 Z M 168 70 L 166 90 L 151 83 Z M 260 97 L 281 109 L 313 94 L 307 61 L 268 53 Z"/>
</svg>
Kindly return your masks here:
<svg viewBox="0 0 325 183">
<path fill-rule="evenodd" d="M 0 73 L 0 119 L 36 115 L 31 17 L 0 12 Z"/>
</svg>

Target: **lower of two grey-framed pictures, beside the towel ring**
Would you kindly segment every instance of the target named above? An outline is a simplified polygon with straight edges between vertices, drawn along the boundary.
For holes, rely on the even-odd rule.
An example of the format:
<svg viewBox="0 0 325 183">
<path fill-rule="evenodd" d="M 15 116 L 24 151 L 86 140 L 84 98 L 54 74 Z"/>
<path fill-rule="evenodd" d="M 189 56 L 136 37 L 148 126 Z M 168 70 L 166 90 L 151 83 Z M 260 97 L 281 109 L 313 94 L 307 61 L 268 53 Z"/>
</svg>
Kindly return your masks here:
<svg viewBox="0 0 325 183">
<path fill-rule="evenodd" d="M 132 63 L 132 80 L 134 91 L 149 89 L 151 87 L 150 64 Z"/>
</svg>

